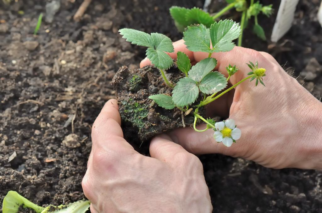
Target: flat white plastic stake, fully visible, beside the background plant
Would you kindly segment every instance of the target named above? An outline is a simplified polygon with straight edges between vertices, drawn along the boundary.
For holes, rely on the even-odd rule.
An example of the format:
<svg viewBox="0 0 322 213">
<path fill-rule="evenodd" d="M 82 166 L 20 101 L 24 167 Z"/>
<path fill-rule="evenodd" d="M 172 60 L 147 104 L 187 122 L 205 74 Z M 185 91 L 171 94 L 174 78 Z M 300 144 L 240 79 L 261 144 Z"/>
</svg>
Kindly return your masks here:
<svg viewBox="0 0 322 213">
<path fill-rule="evenodd" d="M 282 0 L 270 40 L 277 42 L 289 31 L 294 20 L 296 5 L 299 0 Z"/>
</svg>

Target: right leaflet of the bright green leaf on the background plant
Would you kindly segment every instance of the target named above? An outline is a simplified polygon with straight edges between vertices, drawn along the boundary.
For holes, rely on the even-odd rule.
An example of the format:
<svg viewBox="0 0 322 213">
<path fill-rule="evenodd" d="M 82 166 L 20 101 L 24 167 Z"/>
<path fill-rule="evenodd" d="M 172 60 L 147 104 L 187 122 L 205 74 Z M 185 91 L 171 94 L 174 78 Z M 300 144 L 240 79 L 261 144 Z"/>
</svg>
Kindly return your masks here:
<svg viewBox="0 0 322 213">
<path fill-rule="evenodd" d="M 214 22 L 213 17 L 210 16 L 209 13 L 204 12 L 202 9 L 194 7 L 190 9 L 186 14 L 185 14 L 185 19 L 191 24 L 203 24 L 206 27 L 210 27 L 211 24 Z"/>
</svg>

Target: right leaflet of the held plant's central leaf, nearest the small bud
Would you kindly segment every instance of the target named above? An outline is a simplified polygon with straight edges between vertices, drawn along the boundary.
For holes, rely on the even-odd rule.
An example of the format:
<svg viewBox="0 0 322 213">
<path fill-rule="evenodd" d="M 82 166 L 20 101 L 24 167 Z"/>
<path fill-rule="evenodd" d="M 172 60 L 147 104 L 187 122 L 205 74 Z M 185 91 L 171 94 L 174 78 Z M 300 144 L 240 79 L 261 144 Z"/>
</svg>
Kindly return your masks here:
<svg viewBox="0 0 322 213">
<path fill-rule="evenodd" d="M 220 72 L 208 73 L 199 84 L 199 89 L 205 94 L 213 94 L 227 86 L 227 79 Z"/>
</svg>

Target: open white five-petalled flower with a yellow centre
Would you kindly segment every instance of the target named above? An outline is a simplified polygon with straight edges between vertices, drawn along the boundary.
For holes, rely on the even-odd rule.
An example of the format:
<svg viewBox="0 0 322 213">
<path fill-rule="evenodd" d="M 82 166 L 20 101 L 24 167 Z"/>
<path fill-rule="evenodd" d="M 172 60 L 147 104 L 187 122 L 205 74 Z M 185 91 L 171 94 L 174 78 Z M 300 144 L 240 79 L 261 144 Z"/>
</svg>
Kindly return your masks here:
<svg viewBox="0 0 322 213">
<path fill-rule="evenodd" d="M 215 128 L 217 131 L 213 133 L 213 138 L 217 142 L 223 142 L 226 147 L 230 147 L 233 140 L 238 140 L 242 136 L 241 130 L 236 128 L 232 119 L 215 123 Z"/>
</svg>

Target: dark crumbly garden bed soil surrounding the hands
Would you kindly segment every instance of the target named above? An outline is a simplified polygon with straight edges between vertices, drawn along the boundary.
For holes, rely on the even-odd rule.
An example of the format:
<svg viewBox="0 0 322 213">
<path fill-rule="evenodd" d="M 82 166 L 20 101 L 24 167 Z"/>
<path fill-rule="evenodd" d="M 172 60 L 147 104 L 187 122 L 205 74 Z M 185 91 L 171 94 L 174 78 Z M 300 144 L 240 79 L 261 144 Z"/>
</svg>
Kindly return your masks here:
<svg viewBox="0 0 322 213">
<path fill-rule="evenodd" d="M 62 0 L 52 23 L 43 21 L 34 36 L 48 2 L 0 4 L 1 201 L 9 190 L 40 205 L 84 198 L 81 179 L 90 153 L 91 124 L 104 103 L 115 98 L 110 81 L 118 68 L 136 69 L 145 57 L 145 49 L 126 42 L 118 29 L 159 32 L 177 40 L 181 35 L 174 30 L 169 7 L 204 3 L 97 0 L 82 21 L 75 22 L 72 16 L 82 1 Z M 277 44 L 251 33 L 245 33 L 243 42 L 293 69 L 298 81 L 318 98 L 322 92 L 319 3 L 300 1 L 293 27 Z M 147 153 L 145 146 L 138 150 Z M 200 159 L 213 212 L 322 212 L 321 172 L 268 169 L 222 155 Z"/>
</svg>

